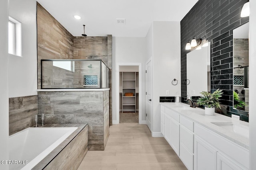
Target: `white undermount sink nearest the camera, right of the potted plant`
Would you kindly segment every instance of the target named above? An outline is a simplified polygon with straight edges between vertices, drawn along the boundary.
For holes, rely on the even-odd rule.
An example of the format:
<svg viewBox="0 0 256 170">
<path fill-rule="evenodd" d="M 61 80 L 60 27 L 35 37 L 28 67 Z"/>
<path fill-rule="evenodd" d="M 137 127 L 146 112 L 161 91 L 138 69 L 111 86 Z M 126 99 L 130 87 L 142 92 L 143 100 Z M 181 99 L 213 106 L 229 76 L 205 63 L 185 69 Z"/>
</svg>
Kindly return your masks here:
<svg viewBox="0 0 256 170">
<path fill-rule="evenodd" d="M 234 124 L 233 122 L 211 122 L 214 125 L 222 127 L 226 130 L 233 131 L 243 137 L 249 138 L 249 127 L 240 124 Z"/>
</svg>

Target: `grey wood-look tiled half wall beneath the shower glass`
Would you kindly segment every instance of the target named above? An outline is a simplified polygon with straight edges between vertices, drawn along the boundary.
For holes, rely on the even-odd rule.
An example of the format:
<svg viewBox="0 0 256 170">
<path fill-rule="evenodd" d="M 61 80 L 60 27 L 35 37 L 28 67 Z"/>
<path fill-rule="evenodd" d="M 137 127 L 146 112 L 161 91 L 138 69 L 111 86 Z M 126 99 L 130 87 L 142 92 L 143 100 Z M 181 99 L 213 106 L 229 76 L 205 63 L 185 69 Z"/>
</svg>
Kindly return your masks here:
<svg viewBox="0 0 256 170">
<path fill-rule="evenodd" d="M 88 123 L 88 149 L 104 150 L 109 135 L 109 90 L 38 92 L 46 124 Z"/>
</svg>

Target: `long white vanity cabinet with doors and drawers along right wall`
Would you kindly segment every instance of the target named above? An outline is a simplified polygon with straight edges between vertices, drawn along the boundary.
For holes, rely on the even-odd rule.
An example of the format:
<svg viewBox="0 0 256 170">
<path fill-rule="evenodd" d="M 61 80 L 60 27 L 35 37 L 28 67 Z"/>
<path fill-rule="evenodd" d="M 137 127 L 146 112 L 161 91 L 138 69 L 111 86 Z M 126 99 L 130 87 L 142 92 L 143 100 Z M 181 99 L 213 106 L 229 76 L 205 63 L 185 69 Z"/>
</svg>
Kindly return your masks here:
<svg viewBox="0 0 256 170">
<path fill-rule="evenodd" d="M 199 114 L 195 119 L 196 109 L 192 117 L 188 109 L 177 109 L 182 105 L 169 105 L 161 105 L 161 132 L 188 170 L 249 169 L 248 149 L 204 125 L 206 119 L 211 123 L 211 117 Z"/>
</svg>

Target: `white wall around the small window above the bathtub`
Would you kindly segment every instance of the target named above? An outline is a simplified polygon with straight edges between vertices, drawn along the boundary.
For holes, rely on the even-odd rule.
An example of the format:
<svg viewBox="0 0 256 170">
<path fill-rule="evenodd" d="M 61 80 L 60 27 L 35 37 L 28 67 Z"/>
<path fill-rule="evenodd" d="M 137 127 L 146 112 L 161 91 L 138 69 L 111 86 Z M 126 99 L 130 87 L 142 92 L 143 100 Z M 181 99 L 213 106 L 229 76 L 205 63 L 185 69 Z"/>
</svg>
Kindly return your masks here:
<svg viewBox="0 0 256 170">
<path fill-rule="evenodd" d="M 22 23 L 22 57 L 9 55 L 9 98 L 36 95 L 36 1 L 9 0 L 9 15 Z"/>
</svg>

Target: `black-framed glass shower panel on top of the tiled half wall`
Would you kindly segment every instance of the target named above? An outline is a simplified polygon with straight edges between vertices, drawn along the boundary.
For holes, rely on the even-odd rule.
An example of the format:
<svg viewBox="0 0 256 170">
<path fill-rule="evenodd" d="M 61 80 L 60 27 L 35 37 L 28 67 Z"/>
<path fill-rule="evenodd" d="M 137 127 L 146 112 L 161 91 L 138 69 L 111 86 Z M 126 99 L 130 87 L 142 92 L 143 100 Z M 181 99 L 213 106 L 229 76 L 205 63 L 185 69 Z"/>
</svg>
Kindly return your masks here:
<svg viewBox="0 0 256 170">
<path fill-rule="evenodd" d="M 109 88 L 110 68 L 102 60 L 41 60 L 42 89 Z"/>
</svg>

